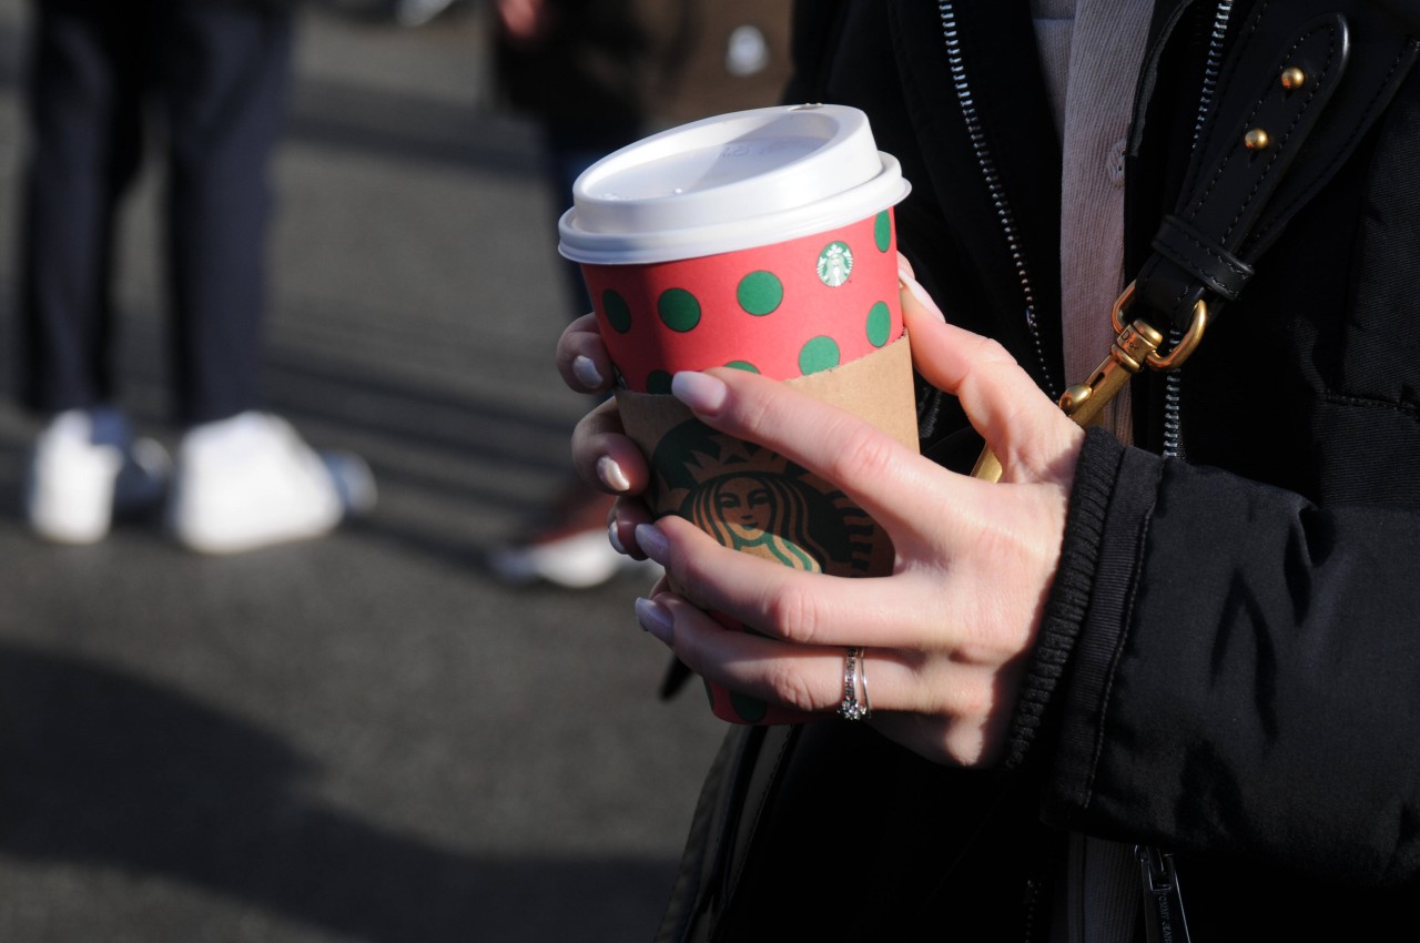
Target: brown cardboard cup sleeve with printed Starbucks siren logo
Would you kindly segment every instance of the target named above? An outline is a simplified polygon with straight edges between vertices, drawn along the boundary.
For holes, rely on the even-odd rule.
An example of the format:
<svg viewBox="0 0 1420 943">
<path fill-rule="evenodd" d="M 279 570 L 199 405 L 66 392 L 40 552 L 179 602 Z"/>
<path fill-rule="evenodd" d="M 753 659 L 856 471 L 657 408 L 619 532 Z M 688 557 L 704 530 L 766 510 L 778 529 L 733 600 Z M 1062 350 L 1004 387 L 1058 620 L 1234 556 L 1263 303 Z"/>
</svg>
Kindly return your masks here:
<svg viewBox="0 0 1420 943">
<path fill-rule="evenodd" d="M 841 366 L 782 382 L 917 449 L 906 335 Z M 848 578 L 892 572 L 893 547 L 886 531 L 834 484 L 765 447 L 710 429 L 669 395 L 618 391 L 616 400 L 626 433 L 649 460 L 646 498 L 657 517 L 677 514 L 726 547 L 795 569 Z M 755 631 L 724 614 L 711 615 L 727 631 Z M 816 717 L 717 685 L 706 689 L 711 710 L 731 723 Z"/>
</svg>

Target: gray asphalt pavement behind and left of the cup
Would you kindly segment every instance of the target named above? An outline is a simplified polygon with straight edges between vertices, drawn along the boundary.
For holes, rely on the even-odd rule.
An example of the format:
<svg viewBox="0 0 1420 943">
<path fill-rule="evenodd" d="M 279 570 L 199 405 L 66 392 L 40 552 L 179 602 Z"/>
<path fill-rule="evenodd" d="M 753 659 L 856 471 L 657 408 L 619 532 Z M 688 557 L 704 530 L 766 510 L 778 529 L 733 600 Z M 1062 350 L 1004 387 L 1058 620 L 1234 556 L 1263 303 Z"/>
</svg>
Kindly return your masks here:
<svg viewBox="0 0 1420 943">
<path fill-rule="evenodd" d="M 557 487 L 581 412 L 528 125 L 483 31 L 308 9 L 277 165 L 273 406 L 365 454 L 375 516 L 197 558 L 17 516 L 31 420 L 0 406 L 0 940 L 645 940 L 721 727 L 655 696 L 643 579 L 510 591 L 484 547 Z M 0 329 L 23 149 L 21 0 L 0 0 Z M 124 405 L 172 445 L 156 170 L 124 222 Z M 0 383 L 11 366 L 0 358 Z"/>
</svg>

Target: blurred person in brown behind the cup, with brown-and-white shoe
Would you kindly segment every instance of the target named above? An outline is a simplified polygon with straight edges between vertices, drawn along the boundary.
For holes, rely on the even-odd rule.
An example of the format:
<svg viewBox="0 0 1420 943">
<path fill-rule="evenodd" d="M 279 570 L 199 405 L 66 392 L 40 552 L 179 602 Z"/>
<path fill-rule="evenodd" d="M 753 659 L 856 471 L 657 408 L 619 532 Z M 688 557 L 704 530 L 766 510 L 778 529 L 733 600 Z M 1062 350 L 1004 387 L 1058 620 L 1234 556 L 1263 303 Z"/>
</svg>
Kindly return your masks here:
<svg viewBox="0 0 1420 943">
<path fill-rule="evenodd" d="M 577 176 L 662 128 L 778 104 L 788 81 L 790 0 L 496 0 L 504 105 L 541 125 L 559 214 Z M 548 249 L 557 240 L 550 220 Z M 575 264 L 568 320 L 592 310 Z M 568 470 L 554 501 L 488 555 L 507 582 L 586 588 L 645 562 L 606 543 L 612 498 Z"/>
</svg>

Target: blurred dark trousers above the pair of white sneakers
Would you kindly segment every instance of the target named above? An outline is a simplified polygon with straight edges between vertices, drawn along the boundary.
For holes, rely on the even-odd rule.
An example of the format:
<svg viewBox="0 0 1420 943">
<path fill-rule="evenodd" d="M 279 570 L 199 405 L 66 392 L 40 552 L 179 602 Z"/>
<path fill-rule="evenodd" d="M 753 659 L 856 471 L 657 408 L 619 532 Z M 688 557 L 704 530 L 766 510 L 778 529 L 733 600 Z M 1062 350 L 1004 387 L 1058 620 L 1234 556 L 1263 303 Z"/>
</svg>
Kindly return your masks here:
<svg viewBox="0 0 1420 943">
<path fill-rule="evenodd" d="M 24 403 L 53 413 L 114 399 L 115 220 L 145 143 L 162 141 L 175 413 L 196 423 L 254 408 L 290 11 L 243 0 L 36 0 L 33 13 Z"/>
</svg>

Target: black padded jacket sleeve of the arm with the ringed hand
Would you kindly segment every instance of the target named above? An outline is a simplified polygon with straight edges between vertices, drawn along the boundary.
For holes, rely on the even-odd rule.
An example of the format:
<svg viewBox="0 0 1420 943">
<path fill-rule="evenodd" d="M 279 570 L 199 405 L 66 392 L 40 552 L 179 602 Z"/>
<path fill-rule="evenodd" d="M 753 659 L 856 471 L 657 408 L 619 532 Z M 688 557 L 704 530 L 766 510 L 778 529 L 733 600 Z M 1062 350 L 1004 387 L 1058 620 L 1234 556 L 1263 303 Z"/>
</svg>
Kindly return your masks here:
<svg viewBox="0 0 1420 943">
<path fill-rule="evenodd" d="M 1027 685 L 1058 687 L 1048 818 L 1416 881 L 1417 548 L 1417 507 L 1319 507 L 1091 435 Z"/>
</svg>

